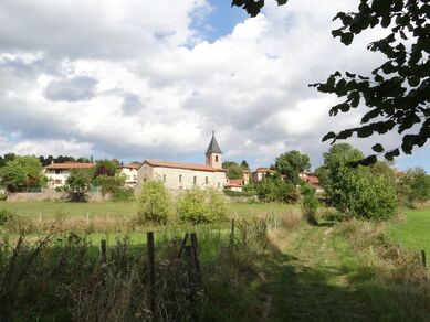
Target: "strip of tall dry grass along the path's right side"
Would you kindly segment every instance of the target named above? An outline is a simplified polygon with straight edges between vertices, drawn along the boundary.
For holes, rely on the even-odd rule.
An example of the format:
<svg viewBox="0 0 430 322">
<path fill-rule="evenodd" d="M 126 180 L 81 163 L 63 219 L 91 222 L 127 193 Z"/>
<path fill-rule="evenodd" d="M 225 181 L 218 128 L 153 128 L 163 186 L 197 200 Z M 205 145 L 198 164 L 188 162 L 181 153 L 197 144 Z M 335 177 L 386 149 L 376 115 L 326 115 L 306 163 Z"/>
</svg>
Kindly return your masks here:
<svg viewBox="0 0 430 322">
<path fill-rule="evenodd" d="M 430 283 L 417 253 L 390 244 L 384 223 L 352 219 L 335 234 L 345 271 L 381 321 L 428 321 Z"/>
</svg>

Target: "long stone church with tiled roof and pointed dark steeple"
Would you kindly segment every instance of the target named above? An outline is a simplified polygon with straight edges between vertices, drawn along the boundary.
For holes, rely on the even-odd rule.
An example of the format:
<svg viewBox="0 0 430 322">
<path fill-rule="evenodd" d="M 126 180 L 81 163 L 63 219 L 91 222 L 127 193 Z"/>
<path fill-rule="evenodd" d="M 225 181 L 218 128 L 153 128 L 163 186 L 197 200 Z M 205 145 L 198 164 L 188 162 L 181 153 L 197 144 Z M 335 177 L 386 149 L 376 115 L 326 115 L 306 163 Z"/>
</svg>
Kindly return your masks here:
<svg viewBox="0 0 430 322">
<path fill-rule="evenodd" d="M 206 164 L 179 163 L 147 159 L 137 171 L 140 185 L 145 181 L 161 181 L 170 190 L 192 187 L 222 190 L 228 183 L 227 170 L 222 169 L 221 149 L 214 132 L 206 151 Z"/>
</svg>

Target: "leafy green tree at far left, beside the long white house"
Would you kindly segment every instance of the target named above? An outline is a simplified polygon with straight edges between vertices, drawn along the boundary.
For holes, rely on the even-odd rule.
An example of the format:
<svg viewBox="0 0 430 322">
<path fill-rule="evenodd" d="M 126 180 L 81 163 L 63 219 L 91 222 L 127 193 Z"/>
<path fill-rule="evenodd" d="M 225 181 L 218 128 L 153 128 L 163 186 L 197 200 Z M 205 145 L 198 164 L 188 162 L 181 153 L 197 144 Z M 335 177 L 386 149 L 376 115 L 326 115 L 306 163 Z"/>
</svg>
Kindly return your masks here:
<svg viewBox="0 0 430 322">
<path fill-rule="evenodd" d="M 8 191 L 30 190 L 46 184 L 42 164 L 36 157 L 13 154 L 13 158 L 8 158 L 8 160 L 0 169 L 0 185 L 6 186 Z"/>
</svg>

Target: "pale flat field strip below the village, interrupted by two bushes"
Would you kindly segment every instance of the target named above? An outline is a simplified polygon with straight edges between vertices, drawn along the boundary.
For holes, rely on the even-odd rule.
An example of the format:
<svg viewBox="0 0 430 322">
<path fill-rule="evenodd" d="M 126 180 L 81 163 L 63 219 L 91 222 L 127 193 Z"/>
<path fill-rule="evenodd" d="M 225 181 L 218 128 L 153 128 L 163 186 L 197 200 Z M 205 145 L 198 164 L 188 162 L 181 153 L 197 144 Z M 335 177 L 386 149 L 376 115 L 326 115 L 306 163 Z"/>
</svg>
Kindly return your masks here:
<svg viewBox="0 0 430 322">
<path fill-rule="evenodd" d="M 71 217 L 94 216 L 135 216 L 133 202 L 105 203 L 69 203 L 69 202 L 0 202 L 0 210 L 17 212 L 21 216 L 40 215 L 43 218 L 55 218 L 60 214 Z M 230 216 L 282 214 L 289 210 L 284 204 L 228 204 Z"/>
</svg>

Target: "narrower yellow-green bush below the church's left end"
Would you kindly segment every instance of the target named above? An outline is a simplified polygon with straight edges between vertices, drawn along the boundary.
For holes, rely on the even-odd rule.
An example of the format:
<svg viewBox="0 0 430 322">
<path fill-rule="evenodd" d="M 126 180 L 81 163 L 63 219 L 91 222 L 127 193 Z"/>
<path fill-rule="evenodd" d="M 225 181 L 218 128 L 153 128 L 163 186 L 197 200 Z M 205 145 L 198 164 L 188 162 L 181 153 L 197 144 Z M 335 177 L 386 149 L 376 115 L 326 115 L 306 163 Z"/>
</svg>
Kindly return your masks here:
<svg viewBox="0 0 430 322">
<path fill-rule="evenodd" d="M 147 181 L 137 195 L 137 212 L 146 222 L 166 224 L 170 207 L 170 193 L 162 182 Z"/>
</svg>

